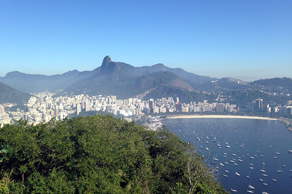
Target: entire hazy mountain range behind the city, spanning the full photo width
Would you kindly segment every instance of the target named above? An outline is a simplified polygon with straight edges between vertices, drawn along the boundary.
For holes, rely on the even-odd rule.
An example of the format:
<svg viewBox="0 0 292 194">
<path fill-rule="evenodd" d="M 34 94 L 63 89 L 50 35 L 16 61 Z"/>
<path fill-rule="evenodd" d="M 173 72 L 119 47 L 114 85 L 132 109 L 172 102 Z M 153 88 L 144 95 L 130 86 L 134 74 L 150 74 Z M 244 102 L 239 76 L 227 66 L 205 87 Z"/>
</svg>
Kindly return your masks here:
<svg viewBox="0 0 292 194">
<path fill-rule="evenodd" d="M 184 71 L 182 68 L 169 68 L 163 64 L 134 67 L 122 62 L 113 62 L 109 56 L 103 59 L 101 66 L 92 71 L 73 70 L 52 76 L 13 71 L 0 77 L 0 82 L 24 93 L 63 90 L 67 94 L 116 95 L 119 98 L 134 97 L 154 88 L 152 95 L 149 94 L 148 97 L 189 96 L 185 100 L 193 100 L 191 96 L 198 97 L 198 94 L 194 92 L 196 90 L 210 92 L 251 89 L 292 91 L 290 78 L 265 79 L 247 83 L 234 78 L 216 79 L 200 76 Z"/>
</svg>

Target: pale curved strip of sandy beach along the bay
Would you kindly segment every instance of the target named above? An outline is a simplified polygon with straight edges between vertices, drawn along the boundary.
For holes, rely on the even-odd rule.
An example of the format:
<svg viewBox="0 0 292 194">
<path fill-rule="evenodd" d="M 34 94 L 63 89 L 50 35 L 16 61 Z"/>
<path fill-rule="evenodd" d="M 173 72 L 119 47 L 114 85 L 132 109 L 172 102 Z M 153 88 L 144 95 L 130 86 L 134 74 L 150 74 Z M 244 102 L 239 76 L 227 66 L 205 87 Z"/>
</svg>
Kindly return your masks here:
<svg viewBox="0 0 292 194">
<path fill-rule="evenodd" d="M 167 118 L 245 118 L 245 119 L 263 119 L 277 120 L 276 118 L 260 117 L 260 116 L 237 116 L 237 115 L 177 115 Z"/>
</svg>

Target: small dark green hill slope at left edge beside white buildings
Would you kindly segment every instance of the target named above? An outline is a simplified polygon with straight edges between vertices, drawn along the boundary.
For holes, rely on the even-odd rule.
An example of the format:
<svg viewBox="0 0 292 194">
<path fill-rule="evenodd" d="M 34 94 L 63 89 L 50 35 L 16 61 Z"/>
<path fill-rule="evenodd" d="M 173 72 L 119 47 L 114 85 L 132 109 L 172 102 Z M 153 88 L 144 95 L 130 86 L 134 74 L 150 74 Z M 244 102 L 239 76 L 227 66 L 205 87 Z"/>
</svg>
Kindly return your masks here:
<svg viewBox="0 0 292 194">
<path fill-rule="evenodd" d="M 0 82 L 0 104 L 2 103 L 22 103 L 27 101 L 31 95 L 19 92 L 9 85 Z"/>
</svg>

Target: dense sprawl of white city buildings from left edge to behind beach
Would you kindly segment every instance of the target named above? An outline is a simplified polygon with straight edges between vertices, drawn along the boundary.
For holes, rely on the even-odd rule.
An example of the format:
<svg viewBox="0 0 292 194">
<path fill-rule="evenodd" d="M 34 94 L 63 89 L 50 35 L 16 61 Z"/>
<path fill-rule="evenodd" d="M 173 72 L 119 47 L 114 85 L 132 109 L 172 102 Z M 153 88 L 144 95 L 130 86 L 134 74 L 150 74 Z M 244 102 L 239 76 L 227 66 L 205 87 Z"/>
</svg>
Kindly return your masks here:
<svg viewBox="0 0 292 194">
<path fill-rule="evenodd" d="M 80 115 L 83 112 L 103 111 L 125 117 L 142 116 L 148 113 L 191 113 L 191 112 L 237 112 L 236 105 L 229 103 L 203 102 L 181 103 L 179 97 L 163 97 L 161 99 L 142 100 L 139 97 L 117 99 L 116 96 L 88 96 L 75 95 L 71 97 L 54 97 L 55 94 L 42 92 L 35 94 L 27 102 L 28 110 L 17 109 L 14 112 L 6 111 L 1 106 L 0 125 L 8 124 L 14 120 L 27 120 L 29 124 L 49 122 L 52 118 L 63 119 L 69 115 Z"/>
</svg>

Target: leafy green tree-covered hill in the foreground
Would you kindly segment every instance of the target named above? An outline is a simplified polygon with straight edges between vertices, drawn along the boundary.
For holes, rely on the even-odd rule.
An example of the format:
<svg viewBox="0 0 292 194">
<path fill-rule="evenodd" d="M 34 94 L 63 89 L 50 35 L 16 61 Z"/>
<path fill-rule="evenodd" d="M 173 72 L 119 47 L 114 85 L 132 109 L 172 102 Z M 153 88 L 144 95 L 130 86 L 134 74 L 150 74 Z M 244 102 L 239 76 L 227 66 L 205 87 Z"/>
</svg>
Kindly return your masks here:
<svg viewBox="0 0 292 194">
<path fill-rule="evenodd" d="M 111 116 L 0 129 L 0 193 L 225 194 L 195 147 Z"/>
</svg>

